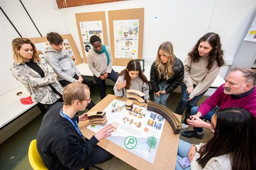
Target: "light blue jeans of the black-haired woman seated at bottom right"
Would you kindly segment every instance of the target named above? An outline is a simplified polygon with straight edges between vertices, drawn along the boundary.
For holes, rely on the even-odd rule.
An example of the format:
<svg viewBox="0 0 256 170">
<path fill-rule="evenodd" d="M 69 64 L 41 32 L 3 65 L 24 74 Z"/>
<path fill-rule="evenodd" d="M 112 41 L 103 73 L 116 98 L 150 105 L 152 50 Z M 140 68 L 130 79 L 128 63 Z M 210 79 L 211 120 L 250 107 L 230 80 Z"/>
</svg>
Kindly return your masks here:
<svg viewBox="0 0 256 170">
<path fill-rule="evenodd" d="M 185 141 L 182 141 L 181 139 L 179 140 L 179 146 L 178 146 L 178 153 L 177 153 L 177 160 L 176 160 L 176 167 L 175 170 L 189 170 L 189 167 L 183 168 L 180 166 L 178 160 L 180 160 L 183 157 L 187 157 L 188 156 L 188 151 L 191 148 L 191 144 Z"/>
</svg>

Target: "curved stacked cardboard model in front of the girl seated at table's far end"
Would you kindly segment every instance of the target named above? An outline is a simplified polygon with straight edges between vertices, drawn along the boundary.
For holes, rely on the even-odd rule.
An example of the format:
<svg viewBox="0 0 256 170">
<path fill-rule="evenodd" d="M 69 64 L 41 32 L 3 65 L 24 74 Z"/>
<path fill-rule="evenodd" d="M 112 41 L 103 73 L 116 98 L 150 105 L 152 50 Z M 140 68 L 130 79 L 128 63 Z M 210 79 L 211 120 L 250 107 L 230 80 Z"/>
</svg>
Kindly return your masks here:
<svg viewBox="0 0 256 170">
<path fill-rule="evenodd" d="M 131 100 L 132 103 L 140 107 L 145 105 L 145 100 L 141 97 L 144 97 L 146 95 L 140 92 L 139 90 L 127 89 L 126 96 L 127 96 L 127 100 Z"/>
</svg>

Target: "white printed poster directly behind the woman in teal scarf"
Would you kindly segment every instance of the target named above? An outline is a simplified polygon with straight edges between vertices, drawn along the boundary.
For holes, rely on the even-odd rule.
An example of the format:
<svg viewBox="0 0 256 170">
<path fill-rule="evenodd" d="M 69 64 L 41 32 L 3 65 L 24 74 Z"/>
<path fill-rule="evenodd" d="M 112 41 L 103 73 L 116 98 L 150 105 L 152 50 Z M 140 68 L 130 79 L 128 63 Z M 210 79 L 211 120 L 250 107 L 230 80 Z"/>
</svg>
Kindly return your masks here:
<svg viewBox="0 0 256 170">
<path fill-rule="evenodd" d="M 85 56 L 87 57 L 89 50 L 93 48 L 90 44 L 91 36 L 96 35 L 101 39 L 101 42 L 104 42 L 102 21 L 85 21 L 79 22 L 79 24 L 85 49 Z"/>
</svg>

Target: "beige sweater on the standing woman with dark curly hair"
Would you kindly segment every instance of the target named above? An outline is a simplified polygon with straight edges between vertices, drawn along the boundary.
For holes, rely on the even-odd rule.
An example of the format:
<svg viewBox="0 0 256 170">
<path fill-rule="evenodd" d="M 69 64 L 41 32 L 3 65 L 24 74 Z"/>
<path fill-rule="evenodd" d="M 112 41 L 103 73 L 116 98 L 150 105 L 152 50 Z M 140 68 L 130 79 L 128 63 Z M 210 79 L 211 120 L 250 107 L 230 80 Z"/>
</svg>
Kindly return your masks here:
<svg viewBox="0 0 256 170">
<path fill-rule="evenodd" d="M 221 67 L 218 66 L 217 62 L 214 61 L 211 69 L 206 69 L 209 56 L 200 56 L 199 62 L 192 62 L 190 56 L 187 56 L 184 61 L 184 79 L 183 83 L 190 87 L 193 84 L 197 85 L 190 93 L 189 98 L 198 96 L 207 90 L 218 76 Z"/>
</svg>

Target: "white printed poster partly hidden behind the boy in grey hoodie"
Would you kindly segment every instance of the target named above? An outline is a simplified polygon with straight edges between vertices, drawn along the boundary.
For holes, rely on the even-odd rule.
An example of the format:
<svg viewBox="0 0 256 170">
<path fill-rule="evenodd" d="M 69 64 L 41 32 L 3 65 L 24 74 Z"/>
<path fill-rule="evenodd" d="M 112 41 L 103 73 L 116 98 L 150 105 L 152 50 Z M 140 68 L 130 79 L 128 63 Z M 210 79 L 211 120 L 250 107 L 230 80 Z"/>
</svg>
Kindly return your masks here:
<svg viewBox="0 0 256 170">
<path fill-rule="evenodd" d="M 45 57 L 45 49 L 47 47 L 50 47 L 50 44 L 49 42 L 40 42 L 40 43 L 35 43 L 35 46 L 38 50 L 38 53 L 39 53 L 39 58 L 44 58 Z M 71 56 L 71 59 L 76 62 L 76 58 L 75 58 L 75 55 L 71 49 L 71 47 L 69 46 L 69 43 L 68 43 L 68 40 L 67 39 L 64 39 L 63 40 L 63 46 L 64 48 L 68 51 L 69 55 Z"/>
</svg>

